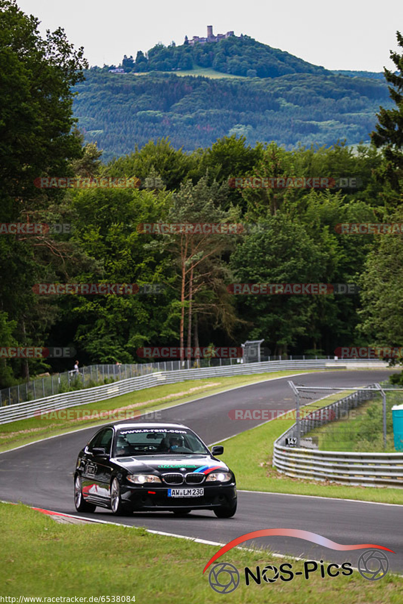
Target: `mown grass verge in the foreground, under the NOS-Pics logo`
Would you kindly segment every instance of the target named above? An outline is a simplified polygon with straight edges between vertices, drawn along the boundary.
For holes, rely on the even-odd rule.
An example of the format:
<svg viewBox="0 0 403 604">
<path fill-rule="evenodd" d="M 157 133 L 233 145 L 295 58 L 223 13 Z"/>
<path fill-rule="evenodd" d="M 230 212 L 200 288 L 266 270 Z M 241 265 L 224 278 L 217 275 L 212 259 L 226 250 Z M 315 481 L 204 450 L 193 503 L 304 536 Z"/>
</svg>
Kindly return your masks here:
<svg viewBox="0 0 403 604">
<path fill-rule="evenodd" d="M 236 522 L 229 520 L 228 522 Z M 59 524 L 25 506 L 0 504 L 0 596 L 135 597 L 138 604 L 172 602 L 204 604 L 223 602 L 213 591 L 208 571 L 202 571 L 218 551 L 217 546 L 185 539 L 152 535 L 141 528 L 105 524 Z M 360 552 L 361 553 L 361 552 Z M 346 553 L 356 566 L 358 553 Z M 393 554 L 390 554 L 393 556 Z M 331 578 L 320 570 L 309 579 L 295 576 L 289 582 L 262 581 L 245 585 L 243 568 L 256 572 L 267 564 L 288 562 L 292 571 L 303 571 L 303 562 L 292 556 L 274 557 L 269 551 L 233 549 L 219 559 L 240 573 L 240 584 L 226 602 L 260 604 L 399 604 L 403 579 L 388 573 L 377 582 L 351 576 Z M 329 562 L 332 551 L 329 550 Z M 73 600 L 74 601 L 74 600 Z"/>
</svg>

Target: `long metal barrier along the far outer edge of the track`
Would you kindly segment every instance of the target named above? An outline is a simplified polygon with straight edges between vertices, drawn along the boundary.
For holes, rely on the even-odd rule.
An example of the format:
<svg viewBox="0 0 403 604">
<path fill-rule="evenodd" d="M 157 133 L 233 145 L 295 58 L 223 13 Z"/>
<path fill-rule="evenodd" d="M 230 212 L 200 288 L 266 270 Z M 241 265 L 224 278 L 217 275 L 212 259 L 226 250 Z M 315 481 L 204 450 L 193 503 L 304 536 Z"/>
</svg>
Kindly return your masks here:
<svg viewBox="0 0 403 604">
<path fill-rule="evenodd" d="M 18 419 L 39 416 L 41 412 L 66 409 L 78 405 L 88 405 L 98 400 L 111 399 L 120 394 L 127 394 L 135 390 L 152 388 L 161 384 L 175 384 L 185 380 L 202 379 L 204 377 L 214 376 L 232 376 L 247 375 L 253 373 L 269 373 L 271 371 L 284 370 L 306 370 L 306 369 L 346 369 L 356 368 L 356 366 L 368 368 L 368 362 L 357 361 L 329 361 L 328 359 L 318 359 L 311 361 L 264 361 L 260 363 L 225 365 L 223 367 L 206 367 L 201 369 L 183 369 L 174 371 L 156 371 L 146 376 L 131 377 L 129 379 L 113 382 L 112 384 L 103 384 L 94 388 L 85 390 L 76 390 L 42 399 L 31 400 L 24 403 L 14 403 L 0 407 L 0 424 L 14 422 Z M 373 361 L 371 368 L 385 368 L 387 363 L 382 361 Z"/>
</svg>

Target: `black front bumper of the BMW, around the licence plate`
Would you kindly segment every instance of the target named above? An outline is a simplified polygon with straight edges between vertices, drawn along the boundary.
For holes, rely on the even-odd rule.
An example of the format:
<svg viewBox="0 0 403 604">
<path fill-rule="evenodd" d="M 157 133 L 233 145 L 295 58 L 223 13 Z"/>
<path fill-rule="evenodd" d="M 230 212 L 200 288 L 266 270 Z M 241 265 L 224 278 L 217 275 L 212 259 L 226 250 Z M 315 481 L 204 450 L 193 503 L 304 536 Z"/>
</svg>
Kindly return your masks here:
<svg viewBox="0 0 403 604">
<path fill-rule="evenodd" d="M 181 488 L 186 486 L 181 486 Z M 232 507 L 236 503 L 236 485 L 205 483 L 200 485 L 204 495 L 200 497 L 169 497 L 168 489 L 175 487 L 160 486 L 155 484 L 129 486 L 122 484 L 121 498 L 127 507 L 135 510 L 209 510 L 217 507 Z"/>
</svg>

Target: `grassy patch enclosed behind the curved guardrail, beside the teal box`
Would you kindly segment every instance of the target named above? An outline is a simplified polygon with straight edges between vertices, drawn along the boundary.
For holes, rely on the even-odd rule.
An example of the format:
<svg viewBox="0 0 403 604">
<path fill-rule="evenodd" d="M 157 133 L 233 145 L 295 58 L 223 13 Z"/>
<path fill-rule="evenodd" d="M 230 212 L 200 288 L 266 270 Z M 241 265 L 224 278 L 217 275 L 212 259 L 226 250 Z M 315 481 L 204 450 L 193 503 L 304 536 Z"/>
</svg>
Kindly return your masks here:
<svg viewBox="0 0 403 604">
<path fill-rule="evenodd" d="M 392 406 L 402 403 L 403 393 L 387 393 L 386 448 L 383 440 L 381 396 L 350 412 L 350 417 L 315 428 L 306 436 L 318 437 L 318 447 L 327 451 L 380 451 L 396 453 L 393 440 Z M 352 413 L 354 412 L 354 416 Z"/>
</svg>

